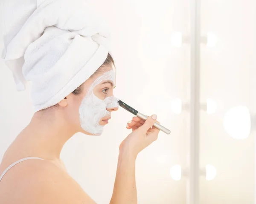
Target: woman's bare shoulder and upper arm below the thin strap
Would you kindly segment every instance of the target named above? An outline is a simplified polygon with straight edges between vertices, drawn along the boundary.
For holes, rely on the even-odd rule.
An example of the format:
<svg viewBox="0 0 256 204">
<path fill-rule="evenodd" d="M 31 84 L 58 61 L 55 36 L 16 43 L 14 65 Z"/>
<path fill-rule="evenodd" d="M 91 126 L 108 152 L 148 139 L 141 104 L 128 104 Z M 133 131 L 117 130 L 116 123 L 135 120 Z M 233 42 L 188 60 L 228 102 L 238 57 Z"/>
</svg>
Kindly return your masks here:
<svg viewBox="0 0 256 204">
<path fill-rule="evenodd" d="M 20 204 L 95 204 L 67 172 L 50 161 L 38 159 L 15 165 L 3 177 L 0 183 L 0 203 L 16 201 Z"/>
</svg>

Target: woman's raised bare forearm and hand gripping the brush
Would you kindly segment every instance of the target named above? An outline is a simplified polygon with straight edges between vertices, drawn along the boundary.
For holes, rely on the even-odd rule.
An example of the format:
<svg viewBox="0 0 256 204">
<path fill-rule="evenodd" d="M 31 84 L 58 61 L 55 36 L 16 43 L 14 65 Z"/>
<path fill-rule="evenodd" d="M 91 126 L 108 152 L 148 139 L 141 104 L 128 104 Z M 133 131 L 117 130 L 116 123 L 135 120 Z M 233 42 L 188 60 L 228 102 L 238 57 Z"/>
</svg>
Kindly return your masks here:
<svg viewBox="0 0 256 204">
<path fill-rule="evenodd" d="M 120 145 L 116 181 L 110 204 L 137 204 L 135 161 L 138 153 L 157 139 L 159 130 L 151 128 L 156 115 L 147 121 L 134 117 L 128 124 L 133 132 Z"/>
</svg>

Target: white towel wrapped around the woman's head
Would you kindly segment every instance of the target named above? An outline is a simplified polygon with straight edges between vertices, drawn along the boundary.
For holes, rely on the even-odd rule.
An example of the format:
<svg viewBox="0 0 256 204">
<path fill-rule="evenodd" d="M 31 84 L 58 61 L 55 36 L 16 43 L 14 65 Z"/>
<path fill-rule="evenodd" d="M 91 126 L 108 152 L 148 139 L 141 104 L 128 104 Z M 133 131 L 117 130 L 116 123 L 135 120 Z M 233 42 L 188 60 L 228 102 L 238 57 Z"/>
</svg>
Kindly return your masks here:
<svg viewBox="0 0 256 204">
<path fill-rule="evenodd" d="M 104 63 L 106 24 L 85 0 L 3 0 L 4 50 L 17 90 L 32 81 L 35 111 L 57 104 Z"/>
</svg>

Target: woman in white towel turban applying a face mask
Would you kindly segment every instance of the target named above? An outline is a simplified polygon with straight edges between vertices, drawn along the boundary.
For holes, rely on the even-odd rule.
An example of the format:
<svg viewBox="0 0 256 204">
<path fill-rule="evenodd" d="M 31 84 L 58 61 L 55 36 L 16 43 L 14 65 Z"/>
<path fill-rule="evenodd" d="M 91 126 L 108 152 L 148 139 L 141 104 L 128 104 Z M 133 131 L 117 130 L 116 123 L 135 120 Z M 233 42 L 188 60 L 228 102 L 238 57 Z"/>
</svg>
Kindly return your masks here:
<svg viewBox="0 0 256 204">
<path fill-rule="evenodd" d="M 82 14 L 88 9 L 83 3 L 72 9 L 74 4 L 68 5 L 70 1 L 34 2 L 22 2 L 24 7 L 28 6 L 26 17 L 16 19 L 19 25 L 20 19 L 26 23 L 23 22 L 22 28 L 17 26 L 15 32 L 12 25 L 13 38 L 5 39 L 6 64 L 14 72 L 17 88 L 24 86 L 23 80 L 32 81 L 36 112 L 3 156 L 0 203 L 94 204 L 67 173 L 60 153 L 65 142 L 76 132 L 100 135 L 111 112 L 118 109 L 113 96 L 113 58 L 106 46 L 102 46 L 104 43 L 99 34 L 102 32 L 91 29 L 93 32 L 88 34 L 85 22 L 79 21 L 81 27 L 73 22 L 79 11 Z M 69 11 L 71 8 L 75 13 L 67 14 L 65 8 Z M 19 9 L 17 5 L 16 9 Z M 52 20 L 54 15 L 58 15 L 56 22 Z M 60 42 L 65 43 L 59 46 Z M 80 57 L 79 53 L 82 53 Z M 72 57 L 73 54 L 76 57 Z M 22 69 L 22 75 L 19 69 Z M 127 128 L 132 129 L 132 133 L 119 147 L 111 204 L 137 203 L 135 160 L 141 150 L 157 139 L 159 130 L 151 128 L 156 119 L 156 115 L 147 121 L 134 117 L 128 123 Z"/>
</svg>

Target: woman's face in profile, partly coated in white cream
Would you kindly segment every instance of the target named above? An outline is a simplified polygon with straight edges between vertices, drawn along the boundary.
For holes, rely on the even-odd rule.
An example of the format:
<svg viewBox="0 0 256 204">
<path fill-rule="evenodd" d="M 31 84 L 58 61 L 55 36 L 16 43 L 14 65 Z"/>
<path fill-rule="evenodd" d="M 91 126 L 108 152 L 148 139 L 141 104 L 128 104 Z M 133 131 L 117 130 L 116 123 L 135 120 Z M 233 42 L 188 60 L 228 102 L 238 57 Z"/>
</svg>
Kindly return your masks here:
<svg viewBox="0 0 256 204">
<path fill-rule="evenodd" d="M 72 124 L 76 124 L 78 132 L 101 135 L 104 126 L 111 119 L 111 112 L 118 109 L 118 103 L 113 96 L 115 67 L 105 67 L 104 70 L 83 83 L 81 94 L 71 96 L 75 108 L 72 114 L 75 120 Z"/>
</svg>

